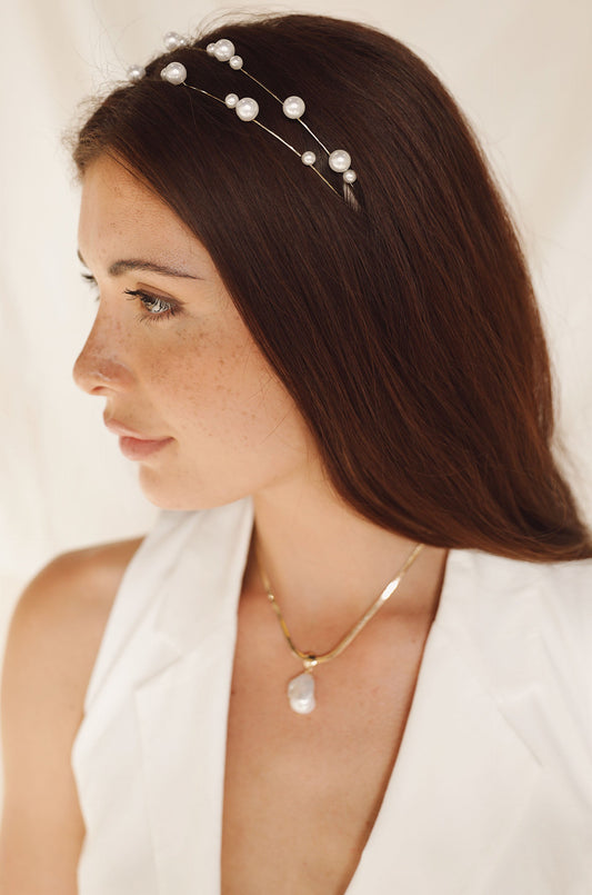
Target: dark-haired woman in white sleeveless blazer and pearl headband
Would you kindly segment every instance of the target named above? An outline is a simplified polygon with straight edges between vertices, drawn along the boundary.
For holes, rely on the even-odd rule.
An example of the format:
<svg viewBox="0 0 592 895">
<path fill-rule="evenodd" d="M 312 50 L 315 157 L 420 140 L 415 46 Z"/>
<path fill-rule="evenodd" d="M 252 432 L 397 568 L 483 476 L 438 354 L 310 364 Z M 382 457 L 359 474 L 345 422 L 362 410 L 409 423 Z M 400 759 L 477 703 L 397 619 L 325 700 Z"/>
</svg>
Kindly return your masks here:
<svg viewBox="0 0 592 895">
<path fill-rule="evenodd" d="M 165 511 L 19 603 L 0 892 L 589 892 L 592 543 L 474 137 L 363 26 L 167 44 L 74 147 L 74 376 Z"/>
</svg>

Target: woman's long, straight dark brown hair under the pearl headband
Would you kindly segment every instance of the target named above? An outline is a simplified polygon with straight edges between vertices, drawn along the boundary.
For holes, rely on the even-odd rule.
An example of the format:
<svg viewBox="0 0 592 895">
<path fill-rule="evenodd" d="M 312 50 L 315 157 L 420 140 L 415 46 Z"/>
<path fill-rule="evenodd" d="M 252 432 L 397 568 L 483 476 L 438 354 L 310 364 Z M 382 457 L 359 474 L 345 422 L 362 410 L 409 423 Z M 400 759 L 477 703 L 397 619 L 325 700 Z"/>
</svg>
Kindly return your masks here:
<svg viewBox="0 0 592 895">
<path fill-rule="evenodd" d="M 261 128 L 162 81 L 181 61 L 188 83 L 255 97 L 263 123 L 314 149 L 242 73 L 195 51 L 221 37 L 351 153 L 357 209 Z M 454 100 L 407 47 L 317 16 L 225 24 L 96 108 L 80 173 L 103 152 L 208 249 L 349 505 L 438 546 L 592 556 L 551 453 L 549 358 L 514 226 Z"/>
</svg>

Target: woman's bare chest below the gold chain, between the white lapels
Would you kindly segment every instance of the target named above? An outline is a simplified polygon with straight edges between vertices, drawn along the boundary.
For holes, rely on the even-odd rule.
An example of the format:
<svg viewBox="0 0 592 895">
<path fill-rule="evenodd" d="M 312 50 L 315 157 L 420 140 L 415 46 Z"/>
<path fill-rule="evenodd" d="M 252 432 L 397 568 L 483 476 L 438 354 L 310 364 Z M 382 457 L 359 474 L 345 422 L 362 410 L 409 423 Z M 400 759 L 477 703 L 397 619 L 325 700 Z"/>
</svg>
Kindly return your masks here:
<svg viewBox="0 0 592 895">
<path fill-rule="evenodd" d="M 269 621 L 250 609 L 239 617 L 222 893 L 340 895 L 392 774 L 430 619 L 384 619 L 319 666 L 310 715 L 289 706 L 287 686 L 302 665 Z"/>
</svg>

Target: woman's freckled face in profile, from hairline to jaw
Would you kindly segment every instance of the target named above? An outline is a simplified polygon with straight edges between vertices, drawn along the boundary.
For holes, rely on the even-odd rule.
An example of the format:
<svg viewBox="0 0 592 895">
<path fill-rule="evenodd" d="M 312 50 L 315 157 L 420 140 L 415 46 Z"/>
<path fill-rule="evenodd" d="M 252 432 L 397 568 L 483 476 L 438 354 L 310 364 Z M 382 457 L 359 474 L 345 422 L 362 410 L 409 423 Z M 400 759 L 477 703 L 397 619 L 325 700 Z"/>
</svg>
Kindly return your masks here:
<svg viewBox="0 0 592 895">
<path fill-rule="evenodd" d="M 74 379 L 107 399 L 152 503 L 218 506 L 307 471 L 312 437 L 210 256 L 108 157 L 83 178 L 79 247 L 100 300 Z"/>
</svg>

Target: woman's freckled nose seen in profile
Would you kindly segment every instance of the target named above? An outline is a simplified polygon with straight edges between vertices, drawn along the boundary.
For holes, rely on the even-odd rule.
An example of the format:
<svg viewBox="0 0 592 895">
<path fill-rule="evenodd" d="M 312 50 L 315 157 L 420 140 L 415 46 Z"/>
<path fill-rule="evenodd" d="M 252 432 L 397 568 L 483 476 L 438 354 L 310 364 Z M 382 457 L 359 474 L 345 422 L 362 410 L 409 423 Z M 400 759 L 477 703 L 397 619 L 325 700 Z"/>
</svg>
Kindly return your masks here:
<svg viewBox="0 0 592 895">
<path fill-rule="evenodd" d="M 124 391 L 132 382 L 131 370 L 123 360 L 120 340 L 99 318 L 100 312 L 76 360 L 74 382 L 89 395 Z"/>
</svg>

